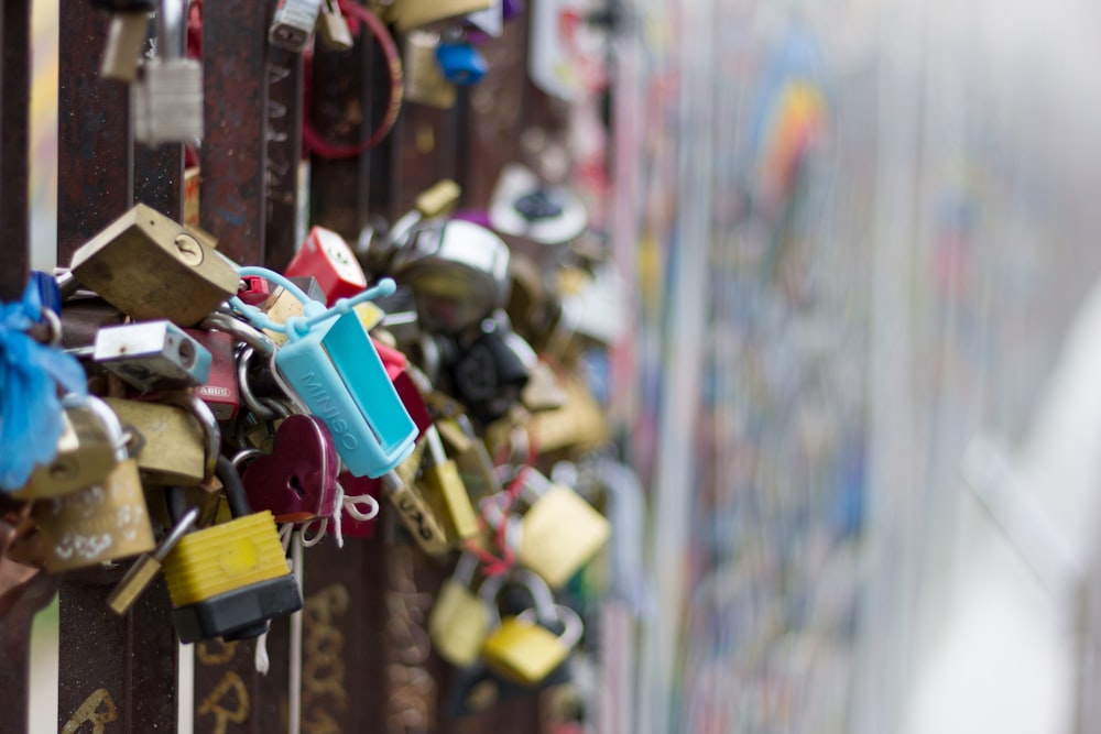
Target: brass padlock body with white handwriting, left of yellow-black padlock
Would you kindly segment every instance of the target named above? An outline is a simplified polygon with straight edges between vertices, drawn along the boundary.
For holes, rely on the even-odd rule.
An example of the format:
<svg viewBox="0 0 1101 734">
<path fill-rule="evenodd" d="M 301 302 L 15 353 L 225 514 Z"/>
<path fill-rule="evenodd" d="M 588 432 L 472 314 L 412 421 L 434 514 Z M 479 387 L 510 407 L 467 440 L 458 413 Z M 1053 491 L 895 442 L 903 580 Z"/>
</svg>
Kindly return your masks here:
<svg viewBox="0 0 1101 734">
<path fill-rule="evenodd" d="M 127 457 L 123 446 L 116 459 L 102 482 L 34 503 L 47 572 L 88 568 L 153 548 L 138 462 Z"/>
</svg>

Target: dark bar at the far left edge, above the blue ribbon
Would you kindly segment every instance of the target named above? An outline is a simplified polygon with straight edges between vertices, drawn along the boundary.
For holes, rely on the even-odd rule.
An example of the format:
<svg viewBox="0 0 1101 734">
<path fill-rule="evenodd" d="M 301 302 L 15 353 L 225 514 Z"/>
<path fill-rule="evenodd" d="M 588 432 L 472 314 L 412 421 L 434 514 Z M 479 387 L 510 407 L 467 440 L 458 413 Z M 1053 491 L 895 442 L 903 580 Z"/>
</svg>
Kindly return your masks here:
<svg viewBox="0 0 1101 734">
<path fill-rule="evenodd" d="M 28 117 L 30 114 L 31 1 L 13 0 L 0 12 L 0 303 L 23 294 L 28 248 Z"/>
</svg>

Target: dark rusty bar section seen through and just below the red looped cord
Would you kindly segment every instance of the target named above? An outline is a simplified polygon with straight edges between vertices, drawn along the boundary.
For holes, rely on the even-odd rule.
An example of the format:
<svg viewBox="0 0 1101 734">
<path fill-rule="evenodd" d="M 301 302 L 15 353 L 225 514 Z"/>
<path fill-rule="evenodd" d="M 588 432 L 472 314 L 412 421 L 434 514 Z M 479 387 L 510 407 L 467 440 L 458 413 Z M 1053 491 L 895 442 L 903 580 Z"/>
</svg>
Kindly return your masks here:
<svg viewBox="0 0 1101 734">
<path fill-rule="evenodd" d="M 375 44 L 366 30 L 356 39 L 351 51 L 338 52 L 318 44 L 312 69 L 310 107 L 305 110 L 314 130 L 325 141 L 340 146 L 356 145 L 371 134 L 372 122 L 380 119 L 372 96 L 372 69 L 382 66 L 375 57 Z M 384 100 L 383 100 L 384 102 Z M 383 206 L 384 187 L 371 186 L 371 166 L 375 158 L 385 157 L 381 146 L 352 158 L 310 156 L 309 208 L 310 222 L 327 227 L 355 242 L 367 224 L 370 210 Z M 373 210 L 378 211 L 378 208 Z"/>
</svg>

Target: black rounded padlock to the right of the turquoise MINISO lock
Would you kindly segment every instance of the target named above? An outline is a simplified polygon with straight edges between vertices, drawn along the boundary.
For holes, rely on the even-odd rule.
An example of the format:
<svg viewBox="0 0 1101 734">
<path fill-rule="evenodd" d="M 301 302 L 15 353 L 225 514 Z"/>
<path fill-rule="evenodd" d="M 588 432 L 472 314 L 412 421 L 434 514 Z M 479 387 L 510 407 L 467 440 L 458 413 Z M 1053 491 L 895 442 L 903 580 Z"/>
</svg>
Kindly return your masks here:
<svg viewBox="0 0 1101 734">
<path fill-rule="evenodd" d="M 455 396 L 471 417 L 489 424 L 520 401 L 537 357 L 531 346 L 508 327 L 508 317 L 482 319 L 480 332 L 450 368 Z M 504 324 L 502 325 L 502 321 Z"/>
</svg>

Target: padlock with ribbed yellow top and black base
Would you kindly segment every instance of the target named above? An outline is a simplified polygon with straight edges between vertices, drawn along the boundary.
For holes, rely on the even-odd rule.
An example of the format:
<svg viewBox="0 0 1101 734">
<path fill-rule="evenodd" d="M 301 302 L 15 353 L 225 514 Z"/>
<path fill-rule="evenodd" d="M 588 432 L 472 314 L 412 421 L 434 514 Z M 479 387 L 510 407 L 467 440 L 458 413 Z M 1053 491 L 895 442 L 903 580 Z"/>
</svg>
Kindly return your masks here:
<svg viewBox="0 0 1101 734">
<path fill-rule="evenodd" d="M 164 559 L 172 622 L 185 644 L 258 637 L 271 620 L 302 609 L 275 518 L 252 512 L 229 459 L 218 458 L 217 475 L 233 519 L 185 535 Z"/>
</svg>

